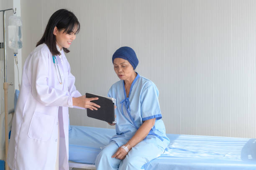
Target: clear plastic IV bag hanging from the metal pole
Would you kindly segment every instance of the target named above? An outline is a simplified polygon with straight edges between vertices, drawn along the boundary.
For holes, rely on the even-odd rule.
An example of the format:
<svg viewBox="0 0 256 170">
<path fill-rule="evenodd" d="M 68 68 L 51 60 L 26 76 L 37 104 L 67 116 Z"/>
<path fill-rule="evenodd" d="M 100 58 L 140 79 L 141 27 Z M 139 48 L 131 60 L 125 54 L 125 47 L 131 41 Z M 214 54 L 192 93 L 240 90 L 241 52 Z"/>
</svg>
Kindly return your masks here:
<svg viewBox="0 0 256 170">
<path fill-rule="evenodd" d="M 21 26 L 20 17 L 14 15 L 9 17 L 8 46 L 14 50 L 14 53 L 18 53 L 18 49 L 22 48 Z"/>
</svg>

